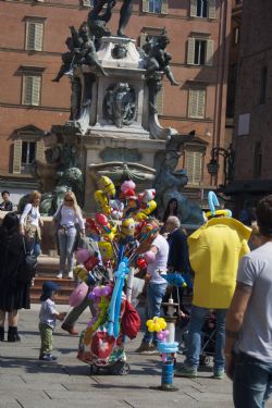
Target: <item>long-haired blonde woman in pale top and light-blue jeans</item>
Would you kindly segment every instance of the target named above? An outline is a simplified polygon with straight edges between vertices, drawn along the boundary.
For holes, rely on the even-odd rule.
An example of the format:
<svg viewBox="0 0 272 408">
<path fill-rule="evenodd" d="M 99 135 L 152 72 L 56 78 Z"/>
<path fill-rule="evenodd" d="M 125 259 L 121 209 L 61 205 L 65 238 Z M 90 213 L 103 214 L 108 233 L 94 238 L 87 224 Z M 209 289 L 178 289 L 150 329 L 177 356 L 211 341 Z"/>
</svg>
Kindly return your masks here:
<svg viewBox="0 0 272 408">
<path fill-rule="evenodd" d="M 53 222 L 57 227 L 57 236 L 60 249 L 60 271 L 57 277 L 62 279 L 65 273 L 67 261 L 67 276 L 73 279 L 73 256 L 77 235 L 77 225 L 82 235 L 85 234 L 84 219 L 82 210 L 77 205 L 73 191 L 64 195 L 64 200 L 53 215 Z"/>
</svg>

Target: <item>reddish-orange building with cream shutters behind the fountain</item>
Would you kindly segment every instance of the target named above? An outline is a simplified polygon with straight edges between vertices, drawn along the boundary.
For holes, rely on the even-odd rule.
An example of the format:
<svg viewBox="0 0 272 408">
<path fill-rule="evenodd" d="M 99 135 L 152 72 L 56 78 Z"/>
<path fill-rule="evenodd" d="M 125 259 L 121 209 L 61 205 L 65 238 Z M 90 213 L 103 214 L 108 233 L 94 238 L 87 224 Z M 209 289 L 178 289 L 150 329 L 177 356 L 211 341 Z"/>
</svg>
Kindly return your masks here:
<svg viewBox="0 0 272 408">
<path fill-rule="evenodd" d="M 35 186 L 30 163 L 44 159 L 42 136 L 70 116 L 70 81 L 54 83 L 69 26 L 87 18 L 91 0 L 1 1 L 0 186 Z M 109 27 L 116 33 L 122 0 Z M 141 47 L 147 35 L 165 28 L 178 86 L 166 78 L 159 98 L 163 126 L 190 134 L 181 147 L 178 168 L 188 171 L 187 190 L 217 185 L 207 172 L 212 147 L 224 145 L 231 4 L 227 0 L 136 0 L 126 29 Z M 182 136 L 181 136 L 182 138 Z M 152 166 L 153 163 L 150 163 Z M 8 181 L 8 182 L 7 182 Z M 24 181 L 24 183 L 23 183 Z"/>
</svg>

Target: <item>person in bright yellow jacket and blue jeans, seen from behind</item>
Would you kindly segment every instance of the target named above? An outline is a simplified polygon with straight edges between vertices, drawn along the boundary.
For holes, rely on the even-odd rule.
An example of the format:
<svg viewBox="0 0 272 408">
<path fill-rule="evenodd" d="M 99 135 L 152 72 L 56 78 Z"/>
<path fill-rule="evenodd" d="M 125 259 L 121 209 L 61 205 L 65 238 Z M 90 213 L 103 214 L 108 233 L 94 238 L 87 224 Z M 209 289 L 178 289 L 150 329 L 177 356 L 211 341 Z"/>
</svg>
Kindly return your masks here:
<svg viewBox="0 0 272 408">
<path fill-rule="evenodd" d="M 194 296 L 187 337 L 186 360 L 176 376 L 196 378 L 201 348 L 201 329 L 210 309 L 215 311 L 213 378 L 224 376 L 225 317 L 236 284 L 239 259 L 249 252 L 251 230 L 239 221 L 212 213 L 211 220 L 188 238 L 189 260 L 195 272 Z M 218 218 L 220 217 L 220 218 Z"/>
</svg>

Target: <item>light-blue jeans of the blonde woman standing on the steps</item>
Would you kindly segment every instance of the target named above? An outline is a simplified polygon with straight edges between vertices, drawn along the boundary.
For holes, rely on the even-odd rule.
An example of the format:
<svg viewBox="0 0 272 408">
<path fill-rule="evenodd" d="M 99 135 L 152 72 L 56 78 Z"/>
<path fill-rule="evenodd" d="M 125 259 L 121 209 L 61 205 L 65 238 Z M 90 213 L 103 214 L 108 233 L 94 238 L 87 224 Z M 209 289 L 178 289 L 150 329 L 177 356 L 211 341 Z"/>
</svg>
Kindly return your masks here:
<svg viewBox="0 0 272 408">
<path fill-rule="evenodd" d="M 60 228 L 58 231 L 58 239 L 60 246 L 60 272 L 65 272 L 65 264 L 67 260 L 69 272 L 73 271 L 74 262 L 74 245 L 76 239 L 76 228 Z"/>
</svg>

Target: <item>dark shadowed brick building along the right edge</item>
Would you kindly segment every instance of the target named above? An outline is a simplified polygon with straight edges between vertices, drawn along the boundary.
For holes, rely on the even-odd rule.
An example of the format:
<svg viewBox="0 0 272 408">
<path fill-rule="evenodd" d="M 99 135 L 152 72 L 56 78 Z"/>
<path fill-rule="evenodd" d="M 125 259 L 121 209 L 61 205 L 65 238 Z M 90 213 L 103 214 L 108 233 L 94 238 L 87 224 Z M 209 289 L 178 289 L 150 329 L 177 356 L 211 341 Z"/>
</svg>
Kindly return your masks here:
<svg viewBox="0 0 272 408">
<path fill-rule="evenodd" d="M 227 188 L 237 212 L 272 193 L 272 8 L 243 1 L 234 120 L 234 182 Z"/>
</svg>

